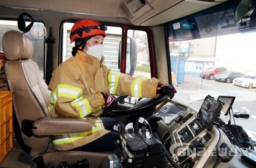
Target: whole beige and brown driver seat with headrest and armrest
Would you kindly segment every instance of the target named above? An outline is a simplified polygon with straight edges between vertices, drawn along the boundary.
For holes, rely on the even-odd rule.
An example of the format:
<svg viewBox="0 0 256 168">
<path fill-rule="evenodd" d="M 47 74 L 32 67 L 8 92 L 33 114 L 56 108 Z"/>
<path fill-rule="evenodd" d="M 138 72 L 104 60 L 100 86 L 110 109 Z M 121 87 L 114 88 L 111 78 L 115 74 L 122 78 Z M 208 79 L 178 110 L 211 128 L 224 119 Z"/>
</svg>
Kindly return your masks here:
<svg viewBox="0 0 256 168">
<path fill-rule="evenodd" d="M 52 148 L 50 135 L 88 131 L 92 125 L 84 118 L 49 117 L 50 91 L 38 65 L 31 59 L 34 52 L 31 40 L 23 33 L 10 30 L 3 35 L 2 42 L 8 59 L 5 64 L 8 86 L 13 91 L 14 131 L 22 149 L 37 167 L 48 163 L 59 165 L 62 161 L 71 165 L 83 159 L 88 159 L 90 168 L 98 167 L 108 153 Z"/>
</svg>

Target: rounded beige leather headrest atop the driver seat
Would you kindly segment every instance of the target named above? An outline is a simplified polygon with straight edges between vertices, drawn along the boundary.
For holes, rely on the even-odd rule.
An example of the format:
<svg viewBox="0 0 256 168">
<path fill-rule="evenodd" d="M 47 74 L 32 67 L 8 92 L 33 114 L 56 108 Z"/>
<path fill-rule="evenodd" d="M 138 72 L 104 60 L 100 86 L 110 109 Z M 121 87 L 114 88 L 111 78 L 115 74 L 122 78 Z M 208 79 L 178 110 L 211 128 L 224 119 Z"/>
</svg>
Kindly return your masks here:
<svg viewBox="0 0 256 168">
<path fill-rule="evenodd" d="M 9 60 L 30 59 L 34 48 L 31 40 L 23 33 L 10 30 L 3 35 L 3 51 Z"/>
</svg>

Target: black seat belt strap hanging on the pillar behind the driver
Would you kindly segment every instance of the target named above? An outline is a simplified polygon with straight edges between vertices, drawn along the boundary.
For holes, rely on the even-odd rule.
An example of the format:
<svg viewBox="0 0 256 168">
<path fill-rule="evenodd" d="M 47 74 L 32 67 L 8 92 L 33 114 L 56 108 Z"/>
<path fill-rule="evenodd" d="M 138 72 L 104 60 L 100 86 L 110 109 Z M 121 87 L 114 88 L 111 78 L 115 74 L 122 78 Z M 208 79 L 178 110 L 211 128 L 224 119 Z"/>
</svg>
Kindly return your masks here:
<svg viewBox="0 0 256 168">
<path fill-rule="evenodd" d="M 55 44 L 55 38 L 52 36 L 52 27 L 49 29 L 49 35 L 45 39 L 45 43 L 47 44 L 47 51 L 46 51 L 46 70 L 45 70 L 45 82 L 47 85 L 49 85 L 51 80 L 51 74 L 53 71 L 53 65 L 54 65 L 54 44 Z"/>
</svg>

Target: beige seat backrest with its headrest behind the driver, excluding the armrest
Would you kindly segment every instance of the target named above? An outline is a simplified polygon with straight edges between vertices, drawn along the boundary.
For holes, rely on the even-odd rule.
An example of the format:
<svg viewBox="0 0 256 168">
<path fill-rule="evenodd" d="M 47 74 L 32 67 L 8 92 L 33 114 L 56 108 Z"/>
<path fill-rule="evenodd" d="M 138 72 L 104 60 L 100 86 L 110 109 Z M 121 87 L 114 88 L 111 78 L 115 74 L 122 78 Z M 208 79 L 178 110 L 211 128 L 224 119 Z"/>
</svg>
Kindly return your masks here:
<svg viewBox="0 0 256 168">
<path fill-rule="evenodd" d="M 29 137 L 22 131 L 22 123 L 24 120 L 35 121 L 48 116 L 50 91 L 37 63 L 31 60 L 34 48 L 25 34 L 7 31 L 3 35 L 3 51 L 8 59 L 5 73 L 9 88 L 13 91 L 13 109 L 19 126 L 16 136 L 20 136 L 17 139 L 30 157 L 37 157 L 47 151 L 50 137 Z"/>
</svg>

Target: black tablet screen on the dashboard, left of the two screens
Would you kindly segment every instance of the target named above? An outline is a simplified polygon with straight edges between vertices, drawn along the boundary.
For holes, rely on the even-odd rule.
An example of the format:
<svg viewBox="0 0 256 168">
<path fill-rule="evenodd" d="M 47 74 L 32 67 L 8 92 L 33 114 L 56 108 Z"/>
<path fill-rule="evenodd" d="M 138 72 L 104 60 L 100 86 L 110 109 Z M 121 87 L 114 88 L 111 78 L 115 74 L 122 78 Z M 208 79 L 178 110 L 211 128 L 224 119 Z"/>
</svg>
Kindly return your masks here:
<svg viewBox="0 0 256 168">
<path fill-rule="evenodd" d="M 208 130 L 211 130 L 221 109 L 222 104 L 208 95 L 204 102 L 202 102 L 197 117 L 204 123 Z"/>
</svg>

